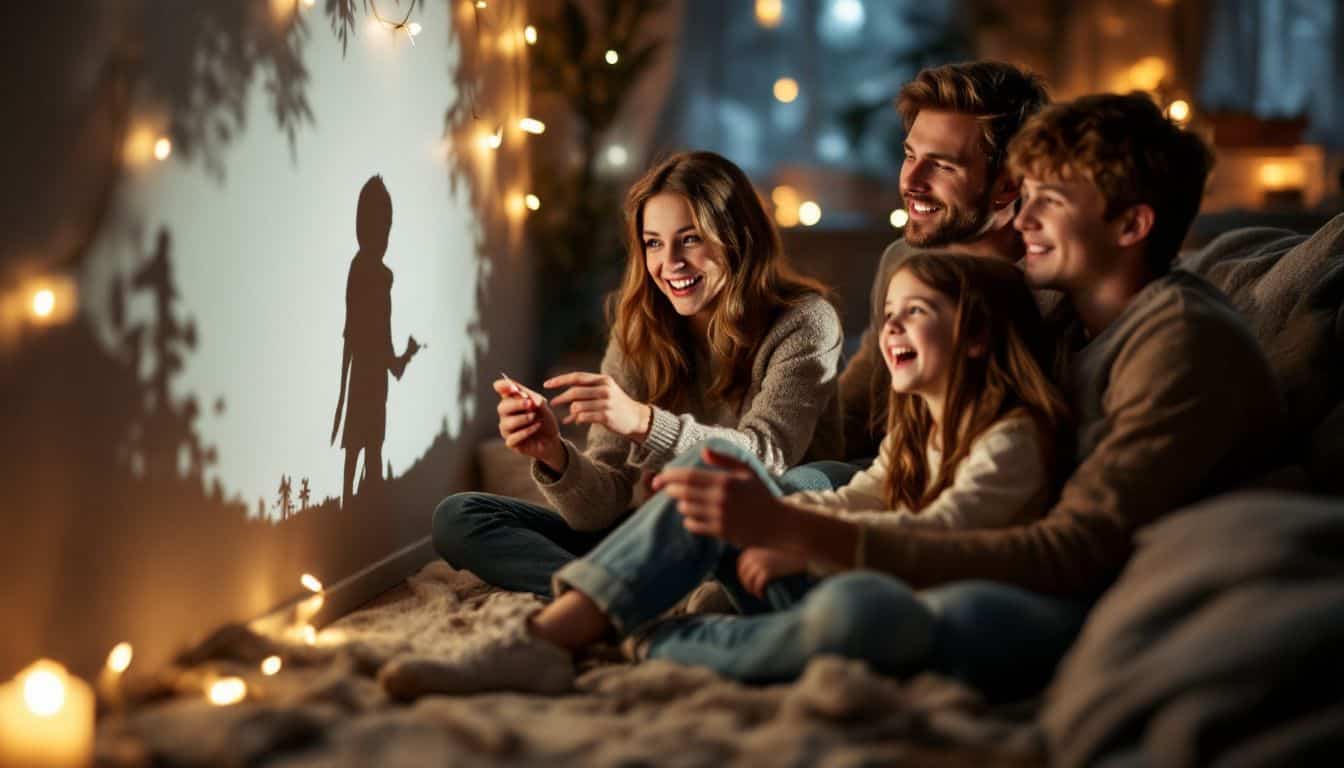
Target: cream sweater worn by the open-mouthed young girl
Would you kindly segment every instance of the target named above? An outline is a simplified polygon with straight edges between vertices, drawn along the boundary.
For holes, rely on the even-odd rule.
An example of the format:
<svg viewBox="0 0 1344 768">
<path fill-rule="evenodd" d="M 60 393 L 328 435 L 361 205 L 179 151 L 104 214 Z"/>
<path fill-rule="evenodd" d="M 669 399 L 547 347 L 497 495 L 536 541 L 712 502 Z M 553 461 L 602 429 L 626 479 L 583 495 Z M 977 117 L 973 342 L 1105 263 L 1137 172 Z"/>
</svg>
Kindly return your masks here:
<svg viewBox="0 0 1344 768">
<path fill-rule="evenodd" d="M 923 527 L 935 530 L 997 529 L 1025 523 L 1046 511 L 1048 476 L 1035 422 L 1025 416 L 1003 418 L 976 438 L 957 465 L 952 484 L 918 512 L 891 510 L 887 477 L 895 441 L 887 436 L 871 467 L 836 491 L 804 491 L 785 496 L 797 507 L 835 515 L 876 529 Z M 941 452 L 929 448 L 937 483 Z"/>
</svg>

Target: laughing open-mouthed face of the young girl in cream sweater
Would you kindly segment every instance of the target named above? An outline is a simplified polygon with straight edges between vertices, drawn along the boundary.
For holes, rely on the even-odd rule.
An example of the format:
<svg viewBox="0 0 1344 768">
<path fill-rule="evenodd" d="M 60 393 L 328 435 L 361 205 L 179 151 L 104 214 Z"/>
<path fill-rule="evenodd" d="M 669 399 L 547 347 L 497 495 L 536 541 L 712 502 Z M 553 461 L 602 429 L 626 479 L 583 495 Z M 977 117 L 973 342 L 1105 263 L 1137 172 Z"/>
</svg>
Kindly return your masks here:
<svg viewBox="0 0 1344 768">
<path fill-rule="evenodd" d="M 938 413 L 952 375 L 956 325 L 952 299 L 907 269 L 896 272 L 887 285 L 879 338 L 891 389 L 925 397 Z"/>
</svg>

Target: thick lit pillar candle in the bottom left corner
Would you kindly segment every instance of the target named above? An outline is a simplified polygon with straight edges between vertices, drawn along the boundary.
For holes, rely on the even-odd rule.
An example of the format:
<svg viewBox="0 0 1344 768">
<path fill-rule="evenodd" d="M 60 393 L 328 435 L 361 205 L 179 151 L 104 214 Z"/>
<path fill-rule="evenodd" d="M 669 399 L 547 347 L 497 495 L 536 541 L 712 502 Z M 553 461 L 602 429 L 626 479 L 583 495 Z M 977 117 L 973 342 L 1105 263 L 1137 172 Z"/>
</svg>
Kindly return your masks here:
<svg viewBox="0 0 1344 768">
<path fill-rule="evenodd" d="M 86 682 L 55 662 L 34 662 L 0 686 L 0 765 L 89 765 L 93 713 Z"/>
</svg>

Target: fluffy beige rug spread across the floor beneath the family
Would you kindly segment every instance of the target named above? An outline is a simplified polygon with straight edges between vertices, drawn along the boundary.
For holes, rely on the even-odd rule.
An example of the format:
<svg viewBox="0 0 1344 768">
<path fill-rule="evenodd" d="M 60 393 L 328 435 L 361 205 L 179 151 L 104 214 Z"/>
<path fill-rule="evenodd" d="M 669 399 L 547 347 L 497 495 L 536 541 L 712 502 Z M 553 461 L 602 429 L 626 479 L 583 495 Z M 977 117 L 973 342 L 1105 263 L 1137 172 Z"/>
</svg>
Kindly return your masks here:
<svg viewBox="0 0 1344 768">
<path fill-rule="evenodd" d="M 793 685 L 743 686 L 667 662 L 587 659 L 562 697 L 427 697 L 398 705 L 375 682 L 399 654 L 452 654 L 492 612 L 535 597 L 445 564 L 405 599 L 364 608 L 316 643 L 227 627 L 151 679 L 126 681 L 98 733 L 99 765 L 981 765 L 1044 763 L 1032 707 L 988 710 L 931 675 L 898 682 L 817 658 Z M 265 675 L 259 663 L 284 667 Z M 211 682 L 246 681 L 238 703 Z"/>
</svg>

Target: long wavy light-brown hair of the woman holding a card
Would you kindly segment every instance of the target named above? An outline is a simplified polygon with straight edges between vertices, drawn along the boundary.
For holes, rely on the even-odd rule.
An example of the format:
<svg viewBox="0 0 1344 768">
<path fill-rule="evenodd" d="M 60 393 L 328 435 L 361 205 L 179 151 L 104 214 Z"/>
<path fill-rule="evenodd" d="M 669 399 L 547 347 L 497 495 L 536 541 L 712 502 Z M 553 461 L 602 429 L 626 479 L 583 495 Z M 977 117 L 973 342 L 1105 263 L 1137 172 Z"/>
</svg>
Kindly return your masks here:
<svg viewBox="0 0 1344 768">
<path fill-rule="evenodd" d="M 691 204 L 706 242 L 722 250 L 724 278 L 708 323 L 708 395 L 741 402 L 751 386 L 751 359 L 782 311 L 825 286 L 789 265 L 780 231 L 741 168 L 714 152 L 680 152 L 659 163 L 625 196 L 626 266 L 607 301 L 612 335 L 646 387 L 649 402 L 679 405 L 692 379 L 689 323 L 649 276 L 644 258 L 644 206 L 675 194 Z"/>
</svg>

